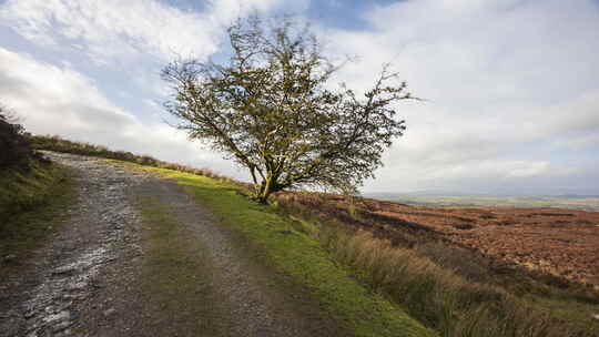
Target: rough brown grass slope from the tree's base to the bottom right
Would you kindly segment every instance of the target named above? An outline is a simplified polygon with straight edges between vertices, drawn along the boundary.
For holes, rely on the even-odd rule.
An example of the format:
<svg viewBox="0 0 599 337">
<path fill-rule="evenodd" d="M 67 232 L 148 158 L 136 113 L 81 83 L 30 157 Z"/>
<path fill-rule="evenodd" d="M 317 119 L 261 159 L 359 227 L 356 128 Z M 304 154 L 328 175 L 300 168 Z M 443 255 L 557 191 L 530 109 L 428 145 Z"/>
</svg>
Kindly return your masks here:
<svg viewBox="0 0 599 337">
<path fill-rule="evenodd" d="M 598 335 L 598 325 L 570 324 L 496 285 L 485 258 L 432 241 L 429 231 L 417 224 L 407 223 L 403 237 L 380 237 L 385 224 L 356 208 L 338 207 L 331 203 L 335 197 L 284 193 L 277 195 L 276 205 L 296 218 L 318 222 L 314 226 L 304 221 L 304 232 L 317 237 L 373 290 L 385 294 L 441 336 Z"/>
</svg>

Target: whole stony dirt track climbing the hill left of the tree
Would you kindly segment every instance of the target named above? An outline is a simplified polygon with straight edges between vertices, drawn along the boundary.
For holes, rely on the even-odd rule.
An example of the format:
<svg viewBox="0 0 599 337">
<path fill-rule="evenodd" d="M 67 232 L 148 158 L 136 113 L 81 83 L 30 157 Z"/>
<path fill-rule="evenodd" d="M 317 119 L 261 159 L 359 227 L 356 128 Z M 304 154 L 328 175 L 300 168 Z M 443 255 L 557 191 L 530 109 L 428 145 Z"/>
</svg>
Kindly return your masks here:
<svg viewBox="0 0 599 337">
<path fill-rule="evenodd" d="M 101 160 L 48 156 L 79 172 L 79 203 L 55 237 L 0 285 L 0 336 L 339 335 L 309 299 L 253 263 L 180 186 Z M 181 226 L 173 232 L 181 256 L 171 256 L 170 265 L 200 251 L 210 265 L 184 272 L 194 282 L 170 297 L 160 296 L 161 284 L 156 293 L 141 286 L 153 279 L 146 266 L 156 262 L 146 252 L 151 228 L 140 198 L 169 210 Z"/>
</svg>

